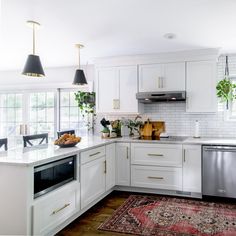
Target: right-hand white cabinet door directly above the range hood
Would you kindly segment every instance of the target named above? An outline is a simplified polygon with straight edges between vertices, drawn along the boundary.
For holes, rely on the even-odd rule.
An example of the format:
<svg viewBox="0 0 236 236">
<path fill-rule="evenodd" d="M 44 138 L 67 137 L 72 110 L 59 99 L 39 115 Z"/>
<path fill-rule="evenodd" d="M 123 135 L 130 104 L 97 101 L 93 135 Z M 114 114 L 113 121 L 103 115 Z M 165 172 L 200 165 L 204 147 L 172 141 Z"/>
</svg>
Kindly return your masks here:
<svg viewBox="0 0 236 236">
<path fill-rule="evenodd" d="M 163 90 L 185 91 L 185 62 L 164 64 Z"/>
</svg>

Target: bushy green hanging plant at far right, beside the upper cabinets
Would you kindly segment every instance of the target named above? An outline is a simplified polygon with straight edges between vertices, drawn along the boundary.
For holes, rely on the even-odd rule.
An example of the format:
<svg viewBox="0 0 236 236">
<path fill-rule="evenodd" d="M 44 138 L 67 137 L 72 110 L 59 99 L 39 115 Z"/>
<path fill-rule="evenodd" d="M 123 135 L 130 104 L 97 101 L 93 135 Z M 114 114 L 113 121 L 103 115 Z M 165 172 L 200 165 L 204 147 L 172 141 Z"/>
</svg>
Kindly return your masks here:
<svg viewBox="0 0 236 236">
<path fill-rule="evenodd" d="M 236 84 L 234 84 L 228 77 L 220 80 L 216 86 L 217 97 L 219 97 L 221 102 L 226 102 L 226 108 L 229 108 L 229 102 L 236 99 L 235 94 Z"/>
</svg>

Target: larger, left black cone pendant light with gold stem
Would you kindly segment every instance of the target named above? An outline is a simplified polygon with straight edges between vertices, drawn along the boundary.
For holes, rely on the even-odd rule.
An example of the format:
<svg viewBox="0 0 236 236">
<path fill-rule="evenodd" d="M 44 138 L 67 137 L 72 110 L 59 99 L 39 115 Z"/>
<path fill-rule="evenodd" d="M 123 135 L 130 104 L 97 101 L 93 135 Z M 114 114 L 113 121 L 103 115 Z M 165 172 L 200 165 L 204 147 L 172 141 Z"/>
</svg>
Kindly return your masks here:
<svg viewBox="0 0 236 236">
<path fill-rule="evenodd" d="M 33 77 L 45 76 L 39 56 L 35 55 L 35 28 L 40 26 L 36 21 L 27 21 L 27 24 L 33 28 L 33 54 L 30 54 L 26 60 L 23 75 Z"/>
</svg>

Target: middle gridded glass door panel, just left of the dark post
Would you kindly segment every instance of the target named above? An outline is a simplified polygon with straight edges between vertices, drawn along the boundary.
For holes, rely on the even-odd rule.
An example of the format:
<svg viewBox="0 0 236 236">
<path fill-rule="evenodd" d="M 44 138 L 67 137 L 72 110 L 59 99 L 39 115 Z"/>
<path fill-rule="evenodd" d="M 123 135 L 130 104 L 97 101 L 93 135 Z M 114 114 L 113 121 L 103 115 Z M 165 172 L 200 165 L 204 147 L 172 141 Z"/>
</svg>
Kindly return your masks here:
<svg viewBox="0 0 236 236">
<path fill-rule="evenodd" d="M 29 133 L 55 133 L 55 93 L 37 92 L 29 94 Z"/>
</svg>

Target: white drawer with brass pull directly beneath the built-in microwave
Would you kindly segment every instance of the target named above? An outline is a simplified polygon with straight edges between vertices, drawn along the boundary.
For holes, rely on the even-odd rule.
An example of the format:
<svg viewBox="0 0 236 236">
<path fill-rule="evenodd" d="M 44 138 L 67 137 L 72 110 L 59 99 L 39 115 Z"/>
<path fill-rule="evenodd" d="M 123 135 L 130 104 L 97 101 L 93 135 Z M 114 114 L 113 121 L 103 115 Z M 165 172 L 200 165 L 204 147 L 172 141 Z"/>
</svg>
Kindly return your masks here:
<svg viewBox="0 0 236 236">
<path fill-rule="evenodd" d="M 74 189 L 60 191 L 33 206 L 33 234 L 44 235 L 67 220 L 76 210 Z"/>
</svg>

